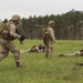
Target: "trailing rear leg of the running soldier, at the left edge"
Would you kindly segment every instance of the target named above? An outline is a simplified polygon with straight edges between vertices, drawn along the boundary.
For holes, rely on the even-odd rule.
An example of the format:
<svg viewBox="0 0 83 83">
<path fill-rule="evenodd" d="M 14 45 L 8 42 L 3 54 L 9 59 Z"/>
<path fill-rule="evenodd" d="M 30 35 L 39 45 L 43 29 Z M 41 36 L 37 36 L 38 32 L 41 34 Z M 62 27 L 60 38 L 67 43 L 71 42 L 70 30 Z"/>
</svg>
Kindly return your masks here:
<svg viewBox="0 0 83 83">
<path fill-rule="evenodd" d="M 2 61 L 4 58 L 7 58 L 8 53 L 9 53 L 9 50 L 3 44 L 1 44 L 1 46 L 0 46 L 0 61 Z"/>
</svg>

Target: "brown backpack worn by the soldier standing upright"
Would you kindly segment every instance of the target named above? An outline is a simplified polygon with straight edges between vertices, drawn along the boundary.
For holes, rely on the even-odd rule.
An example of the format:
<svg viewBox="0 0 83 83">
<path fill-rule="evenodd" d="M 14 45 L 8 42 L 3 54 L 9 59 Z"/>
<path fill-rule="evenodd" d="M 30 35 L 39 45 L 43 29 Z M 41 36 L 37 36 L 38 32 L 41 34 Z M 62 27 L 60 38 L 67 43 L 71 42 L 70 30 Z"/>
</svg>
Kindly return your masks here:
<svg viewBox="0 0 83 83">
<path fill-rule="evenodd" d="M 44 28 L 42 29 L 42 39 L 44 44 L 48 44 L 49 40 L 50 40 L 50 33 L 49 33 L 49 28 Z"/>
</svg>

